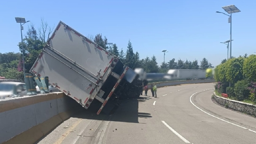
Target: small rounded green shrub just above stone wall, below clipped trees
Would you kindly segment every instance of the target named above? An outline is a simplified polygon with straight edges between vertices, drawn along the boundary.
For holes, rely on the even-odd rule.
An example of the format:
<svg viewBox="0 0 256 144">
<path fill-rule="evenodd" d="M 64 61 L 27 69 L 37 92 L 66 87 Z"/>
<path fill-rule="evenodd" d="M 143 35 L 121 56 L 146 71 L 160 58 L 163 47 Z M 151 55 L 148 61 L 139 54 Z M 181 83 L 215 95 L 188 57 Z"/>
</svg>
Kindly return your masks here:
<svg viewBox="0 0 256 144">
<path fill-rule="evenodd" d="M 242 101 L 249 97 L 250 90 L 248 89 L 248 86 L 249 84 L 246 80 L 236 82 L 234 86 L 234 93 L 237 100 Z"/>
</svg>

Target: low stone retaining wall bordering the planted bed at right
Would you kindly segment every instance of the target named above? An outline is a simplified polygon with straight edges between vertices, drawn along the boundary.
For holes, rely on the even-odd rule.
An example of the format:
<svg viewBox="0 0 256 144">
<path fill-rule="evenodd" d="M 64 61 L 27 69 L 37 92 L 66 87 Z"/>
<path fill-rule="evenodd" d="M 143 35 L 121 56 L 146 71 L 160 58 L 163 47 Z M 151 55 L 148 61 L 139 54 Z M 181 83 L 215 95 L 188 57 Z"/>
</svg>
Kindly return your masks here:
<svg viewBox="0 0 256 144">
<path fill-rule="evenodd" d="M 217 96 L 214 92 L 213 99 L 220 105 L 225 106 L 226 108 L 230 108 L 232 110 L 236 110 L 238 112 L 243 112 L 248 115 L 256 117 L 256 105 L 255 104 L 248 104 L 245 102 L 240 102 L 236 100 L 230 100 L 227 98 L 223 98 Z"/>
</svg>

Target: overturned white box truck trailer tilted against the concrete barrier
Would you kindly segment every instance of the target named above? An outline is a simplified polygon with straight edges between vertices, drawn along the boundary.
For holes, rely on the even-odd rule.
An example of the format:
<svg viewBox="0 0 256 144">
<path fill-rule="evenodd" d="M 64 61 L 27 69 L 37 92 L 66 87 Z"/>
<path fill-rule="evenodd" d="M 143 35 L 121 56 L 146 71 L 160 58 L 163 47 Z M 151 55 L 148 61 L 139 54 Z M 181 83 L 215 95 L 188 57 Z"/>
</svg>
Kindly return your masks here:
<svg viewBox="0 0 256 144">
<path fill-rule="evenodd" d="M 147 81 L 98 44 L 59 22 L 30 72 L 49 77 L 49 84 L 84 108 L 106 114 L 118 100 L 138 98 Z"/>
</svg>

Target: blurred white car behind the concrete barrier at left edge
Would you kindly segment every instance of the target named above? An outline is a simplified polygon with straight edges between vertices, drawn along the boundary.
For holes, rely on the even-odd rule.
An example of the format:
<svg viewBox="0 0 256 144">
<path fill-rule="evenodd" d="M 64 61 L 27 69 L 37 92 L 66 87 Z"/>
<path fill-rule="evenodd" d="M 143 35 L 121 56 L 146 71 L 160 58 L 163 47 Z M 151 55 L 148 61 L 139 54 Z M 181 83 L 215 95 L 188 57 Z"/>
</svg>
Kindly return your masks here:
<svg viewBox="0 0 256 144">
<path fill-rule="evenodd" d="M 0 98 L 25 96 L 26 85 L 21 82 L 0 82 Z"/>
</svg>

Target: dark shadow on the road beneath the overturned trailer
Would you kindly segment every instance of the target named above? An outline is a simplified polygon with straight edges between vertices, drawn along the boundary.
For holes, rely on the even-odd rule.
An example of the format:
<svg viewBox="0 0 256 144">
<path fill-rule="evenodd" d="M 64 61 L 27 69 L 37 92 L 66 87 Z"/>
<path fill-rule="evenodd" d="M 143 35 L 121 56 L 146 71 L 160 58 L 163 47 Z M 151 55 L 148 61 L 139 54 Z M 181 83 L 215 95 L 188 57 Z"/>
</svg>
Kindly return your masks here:
<svg viewBox="0 0 256 144">
<path fill-rule="evenodd" d="M 139 123 L 138 118 L 152 118 L 149 113 L 138 112 L 138 103 L 146 102 L 149 97 L 140 97 L 138 99 L 123 100 L 120 106 L 114 114 L 104 114 L 103 112 L 99 115 L 96 114 L 98 109 L 78 108 L 78 113 L 73 115 L 74 118 L 90 119 L 90 120 L 105 120 L 105 121 L 116 121 L 116 122 L 132 122 Z M 151 99 L 151 98 L 150 98 Z"/>
</svg>

